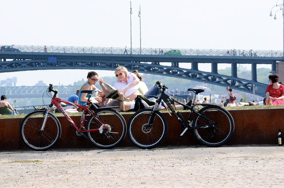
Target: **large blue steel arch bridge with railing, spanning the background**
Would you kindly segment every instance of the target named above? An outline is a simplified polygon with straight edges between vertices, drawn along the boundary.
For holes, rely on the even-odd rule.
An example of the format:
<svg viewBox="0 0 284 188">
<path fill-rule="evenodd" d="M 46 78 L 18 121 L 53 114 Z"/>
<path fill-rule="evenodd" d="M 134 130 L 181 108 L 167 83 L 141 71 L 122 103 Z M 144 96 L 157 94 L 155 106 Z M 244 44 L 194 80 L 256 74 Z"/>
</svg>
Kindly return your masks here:
<svg viewBox="0 0 284 188">
<path fill-rule="evenodd" d="M 273 50 L 180 49 L 181 56 L 165 55 L 171 49 L 163 49 L 162 53 L 158 48 L 132 48 L 132 54 L 129 54 L 130 49 L 127 48 L 126 54 L 125 48 L 113 47 L 14 47 L 20 51 L 0 51 L 0 72 L 58 69 L 113 71 L 118 66 L 125 66 L 128 70 L 136 69 L 142 73 L 190 79 L 222 87 L 230 86 L 248 93 L 254 91 L 254 94 L 263 97 L 267 84 L 257 82 L 257 65 L 270 64 L 271 72 L 276 72 L 277 62 L 283 61 L 283 51 Z M 198 66 L 201 63 L 209 63 L 211 72 L 200 71 Z M 231 75 L 218 73 L 218 64 L 223 63 L 231 64 Z M 252 80 L 237 77 L 237 64 L 251 64 Z"/>
</svg>

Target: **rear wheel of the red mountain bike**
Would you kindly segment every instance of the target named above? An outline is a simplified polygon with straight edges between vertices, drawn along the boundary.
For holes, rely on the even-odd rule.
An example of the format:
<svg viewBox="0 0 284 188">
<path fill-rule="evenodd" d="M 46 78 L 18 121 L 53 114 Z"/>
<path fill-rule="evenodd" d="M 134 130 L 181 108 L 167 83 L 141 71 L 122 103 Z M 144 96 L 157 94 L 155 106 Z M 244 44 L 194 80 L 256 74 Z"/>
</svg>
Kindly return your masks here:
<svg viewBox="0 0 284 188">
<path fill-rule="evenodd" d="M 112 109 L 95 111 L 98 119 L 110 126 L 110 132 L 88 131 L 90 140 L 99 148 L 110 149 L 120 144 L 126 136 L 126 121 L 124 117 Z M 103 116 L 102 116 L 103 115 Z M 101 124 L 91 116 L 87 123 L 87 130 L 99 129 Z"/>
</svg>

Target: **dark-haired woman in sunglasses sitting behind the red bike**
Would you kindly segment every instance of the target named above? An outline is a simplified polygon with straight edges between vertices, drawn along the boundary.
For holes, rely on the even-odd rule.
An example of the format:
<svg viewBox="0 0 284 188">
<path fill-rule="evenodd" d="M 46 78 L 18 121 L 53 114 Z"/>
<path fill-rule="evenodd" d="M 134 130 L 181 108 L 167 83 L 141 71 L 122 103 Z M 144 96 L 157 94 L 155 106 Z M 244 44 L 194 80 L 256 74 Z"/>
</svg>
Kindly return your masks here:
<svg viewBox="0 0 284 188">
<path fill-rule="evenodd" d="M 88 93 L 81 93 L 81 91 L 83 91 L 83 90 L 94 90 L 94 89 L 98 90 L 98 96 L 91 97 L 90 100 L 92 102 L 102 102 L 103 99 L 102 99 L 101 96 L 104 96 L 104 92 L 95 87 L 95 84 L 98 81 L 98 74 L 94 71 L 88 72 L 87 79 L 88 79 L 88 81 L 85 84 L 83 84 L 82 87 L 80 88 L 78 103 L 80 105 L 86 105 L 86 103 L 88 101 L 88 97 L 90 95 Z"/>
</svg>

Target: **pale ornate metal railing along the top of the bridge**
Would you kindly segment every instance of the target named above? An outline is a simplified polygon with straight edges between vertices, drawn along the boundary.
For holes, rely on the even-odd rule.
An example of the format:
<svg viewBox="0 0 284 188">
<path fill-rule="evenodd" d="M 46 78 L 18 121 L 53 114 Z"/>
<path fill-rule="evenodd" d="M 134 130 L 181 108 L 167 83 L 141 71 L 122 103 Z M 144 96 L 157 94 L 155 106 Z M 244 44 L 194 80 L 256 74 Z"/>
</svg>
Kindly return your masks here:
<svg viewBox="0 0 284 188">
<path fill-rule="evenodd" d="M 3 45 L 0 45 L 3 46 Z M 79 53 L 79 54 L 126 54 L 121 47 L 82 47 L 82 46 L 42 46 L 42 45 L 13 45 L 20 52 L 47 53 Z M 184 56 L 237 56 L 237 57 L 283 57 L 282 50 L 240 50 L 240 49 L 179 49 L 179 48 L 132 48 L 133 55 L 165 55 L 172 49 L 178 49 Z M 126 48 L 127 54 L 130 48 Z"/>
</svg>

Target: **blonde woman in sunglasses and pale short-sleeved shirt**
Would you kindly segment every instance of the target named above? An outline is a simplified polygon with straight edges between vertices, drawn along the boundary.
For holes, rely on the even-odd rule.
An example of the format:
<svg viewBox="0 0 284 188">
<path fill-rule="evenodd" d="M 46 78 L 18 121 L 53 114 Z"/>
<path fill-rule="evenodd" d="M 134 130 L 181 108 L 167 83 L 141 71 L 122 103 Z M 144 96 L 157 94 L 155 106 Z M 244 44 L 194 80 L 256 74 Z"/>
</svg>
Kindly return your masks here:
<svg viewBox="0 0 284 188">
<path fill-rule="evenodd" d="M 133 101 L 137 95 L 141 95 L 139 88 L 139 78 L 135 73 L 128 73 L 125 67 L 119 66 L 115 69 L 115 76 L 117 82 L 114 83 L 114 87 L 122 92 L 126 98 Z"/>
</svg>

